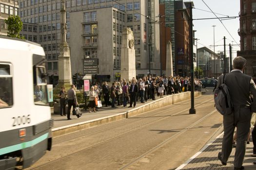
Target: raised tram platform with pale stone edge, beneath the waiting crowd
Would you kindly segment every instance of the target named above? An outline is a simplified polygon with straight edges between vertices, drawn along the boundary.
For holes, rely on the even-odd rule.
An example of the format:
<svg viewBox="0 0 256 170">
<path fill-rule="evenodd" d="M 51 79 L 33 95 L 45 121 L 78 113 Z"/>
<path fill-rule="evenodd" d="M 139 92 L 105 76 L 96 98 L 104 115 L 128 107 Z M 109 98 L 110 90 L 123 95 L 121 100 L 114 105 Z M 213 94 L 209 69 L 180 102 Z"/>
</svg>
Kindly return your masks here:
<svg viewBox="0 0 256 170">
<path fill-rule="evenodd" d="M 195 92 L 195 97 L 200 96 L 201 92 Z M 98 126 L 111 121 L 125 119 L 135 116 L 159 107 L 167 106 L 177 102 L 189 100 L 191 92 L 182 92 L 174 95 L 165 95 L 163 98 L 156 97 L 156 100 L 148 100 L 147 102 L 136 104 L 136 107 L 123 107 L 123 105 L 116 106 L 115 108 L 101 107 L 97 112 L 89 113 L 89 110 L 82 110 L 82 116 L 71 115 L 71 120 L 67 120 L 66 116 L 59 114 L 52 114 L 54 119 L 54 127 L 52 129 L 53 137 L 65 135 L 68 133 L 76 132 L 82 129 Z M 129 105 L 129 104 L 128 104 Z M 52 109 L 53 113 L 53 109 Z"/>
</svg>

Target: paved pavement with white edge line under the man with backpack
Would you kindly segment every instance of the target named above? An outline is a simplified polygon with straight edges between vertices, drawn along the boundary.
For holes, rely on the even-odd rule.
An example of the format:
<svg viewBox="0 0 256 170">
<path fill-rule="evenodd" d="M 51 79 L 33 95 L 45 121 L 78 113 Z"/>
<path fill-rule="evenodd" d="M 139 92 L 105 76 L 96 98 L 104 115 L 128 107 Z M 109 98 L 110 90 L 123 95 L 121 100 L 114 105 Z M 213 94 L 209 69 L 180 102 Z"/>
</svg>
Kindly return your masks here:
<svg viewBox="0 0 256 170">
<path fill-rule="evenodd" d="M 222 137 L 223 132 L 176 170 L 234 170 L 233 161 L 236 148 L 233 148 L 226 166 L 222 166 L 217 158 L 218 153 L 221 152 Z M 252 138 L 250 140 L 250 144 L 247 144 L 243 166 L 245 170 L 256 170 L 256 165 L 253 164 L 256 157 L 251 156 L 253 154 Z"/>
</svg>

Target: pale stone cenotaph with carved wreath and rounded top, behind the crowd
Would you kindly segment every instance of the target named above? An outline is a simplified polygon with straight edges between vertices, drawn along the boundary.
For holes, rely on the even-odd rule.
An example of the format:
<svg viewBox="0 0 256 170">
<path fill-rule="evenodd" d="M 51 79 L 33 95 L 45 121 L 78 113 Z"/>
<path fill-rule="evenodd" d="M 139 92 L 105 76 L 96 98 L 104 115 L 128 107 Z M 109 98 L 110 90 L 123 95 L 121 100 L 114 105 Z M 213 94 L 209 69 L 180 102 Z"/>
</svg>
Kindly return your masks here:
<svg viewBox="0 0 256 170">
<path fill-rule="evenodd" d="M 131 28 L 122 31 L 121 79 L 126 81 L 136 77 L 134 35 Z"/>
</svg>

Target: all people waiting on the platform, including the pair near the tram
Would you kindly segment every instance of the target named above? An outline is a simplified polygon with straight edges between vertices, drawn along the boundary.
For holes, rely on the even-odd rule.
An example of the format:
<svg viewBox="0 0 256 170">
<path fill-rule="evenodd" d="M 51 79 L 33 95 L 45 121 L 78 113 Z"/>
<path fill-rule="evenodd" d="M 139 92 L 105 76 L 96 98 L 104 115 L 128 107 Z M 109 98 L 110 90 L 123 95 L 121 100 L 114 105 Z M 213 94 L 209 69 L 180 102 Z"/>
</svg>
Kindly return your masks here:
<svg viewBox="0 0 256 170">
<path fill-rule="evenodd" d="M 202 82 L 199 79 L 195 79 L 194 82 L 195 91 L 201 91 Z M 75 108 L 77 105 L 76 92 L 74 90 L 75 85 L 71 85 L 71 89 L 66 93 L 65 87 L 62 87 L 59 92 L 60 99 L 60 116 L 66 116 L 65 107 L 68 104 L 68 112 L 70 113 L 71 106 Z M 191 90 L 191 80 L 189 77 L 180 76 L 157 76 L 151 75 L 145 76 L 140 79 L 133 78 L 131 81 L 120 79 L 120 81 L 114 81 L 112 85 L 108 85 L 107 82 L 103 82 L 102 90 L 100 85 L 96 83 L 92 85 L 89 91 L 89 112 L 97 112 L 98 101 L 101 103 L 101 95 L 104 98 L 105 107 L 111 105 L 116 107 L 123 105 L 126 107 L 136 106 L 136 102 L 140 99 L 141 103 L 147 102 L 147 100 L 156 100 L 155 96 L 163 97 L 163 95 L 171 95 L 181 93 L 183 91 Z M 70 93 L 70 94 L 69 94 Z M 72 101 L 74 102 L 72 102 Z M 70 101 L 70 103 L 68 103 Z M 75 113 L 73 113 L 75 115 Z M 70 119 L 70 114 L 67 115 Z"/>
</svg>

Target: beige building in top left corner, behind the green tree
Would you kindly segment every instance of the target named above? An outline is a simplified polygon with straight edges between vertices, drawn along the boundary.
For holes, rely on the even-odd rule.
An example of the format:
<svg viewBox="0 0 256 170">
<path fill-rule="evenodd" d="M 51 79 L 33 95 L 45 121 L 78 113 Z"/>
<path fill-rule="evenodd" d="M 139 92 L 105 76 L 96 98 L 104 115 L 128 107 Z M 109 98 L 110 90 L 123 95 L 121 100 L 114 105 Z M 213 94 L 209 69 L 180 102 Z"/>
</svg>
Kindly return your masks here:
<svg viewBox="0 0 256 170">
<path fill-rule="evenodd" d="M 4 19 L 18 15 L 18 0 L 0 0 L 0 35 L 7 35 L 7 25 Z"/>
</svg>

